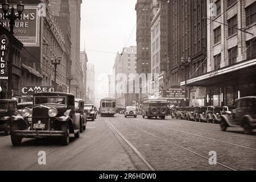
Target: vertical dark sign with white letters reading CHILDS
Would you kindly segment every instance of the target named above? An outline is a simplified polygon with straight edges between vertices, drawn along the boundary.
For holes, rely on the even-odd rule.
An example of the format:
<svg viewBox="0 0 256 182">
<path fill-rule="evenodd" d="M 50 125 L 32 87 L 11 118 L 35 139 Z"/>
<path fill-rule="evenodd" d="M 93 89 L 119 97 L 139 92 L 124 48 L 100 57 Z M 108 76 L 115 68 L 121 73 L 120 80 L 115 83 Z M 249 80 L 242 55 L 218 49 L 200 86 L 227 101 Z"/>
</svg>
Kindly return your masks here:
<svg viewBox="0 0 256 182">
<path fill-rule="evenodd" d="M 0 80 L 8 80 L 7 76 L 7 38 L 3 36 L 0 39 Z"/>
</svg>

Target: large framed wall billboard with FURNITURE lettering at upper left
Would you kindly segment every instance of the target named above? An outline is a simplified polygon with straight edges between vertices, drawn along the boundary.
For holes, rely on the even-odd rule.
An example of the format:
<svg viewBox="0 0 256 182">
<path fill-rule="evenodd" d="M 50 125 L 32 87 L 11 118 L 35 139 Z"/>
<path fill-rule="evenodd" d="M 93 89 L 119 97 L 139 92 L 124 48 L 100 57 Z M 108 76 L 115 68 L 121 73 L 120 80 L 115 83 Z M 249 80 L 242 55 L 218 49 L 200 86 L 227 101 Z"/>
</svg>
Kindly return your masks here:
<svg viewBox="0 0 256 182">
<path fill-rule="evenodd" d="M 2 26 L 10 30 L 9 20 L 3 18 L 2 6 L 0 6 L 0 20 Z M 15 12 L 16 9 L 15 9 Z M 16 13 L 18 15 L 18 13 Z M 24 46 L 39 46 L 38 42 L 38 6 L 25 6 L 20 20 L 15 21 L 14 36 Z"/>
</svg>

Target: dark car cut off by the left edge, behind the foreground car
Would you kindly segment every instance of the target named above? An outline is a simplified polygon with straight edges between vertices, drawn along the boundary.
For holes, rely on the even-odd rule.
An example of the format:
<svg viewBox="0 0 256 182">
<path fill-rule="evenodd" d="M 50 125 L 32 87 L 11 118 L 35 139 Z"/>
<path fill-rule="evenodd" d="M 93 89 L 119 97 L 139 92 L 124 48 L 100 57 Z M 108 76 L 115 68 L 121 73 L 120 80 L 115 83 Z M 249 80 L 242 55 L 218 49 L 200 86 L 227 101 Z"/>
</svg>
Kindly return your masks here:
<svg viewBox="0 0 256 182">
<path fill-rule="evenodd" d="M 10 118 L 18 114 L 16 100 L 0 100 L 0 131 L 10 135 Z"/>
</svg>

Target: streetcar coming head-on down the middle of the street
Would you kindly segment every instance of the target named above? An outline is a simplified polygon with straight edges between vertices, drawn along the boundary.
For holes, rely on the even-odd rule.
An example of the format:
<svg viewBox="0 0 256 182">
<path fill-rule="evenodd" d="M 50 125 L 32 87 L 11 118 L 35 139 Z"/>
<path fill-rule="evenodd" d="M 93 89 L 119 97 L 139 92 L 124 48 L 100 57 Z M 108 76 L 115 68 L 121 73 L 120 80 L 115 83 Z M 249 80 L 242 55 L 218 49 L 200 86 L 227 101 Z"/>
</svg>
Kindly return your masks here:
<svg viewBox="0 0 256 182">
<path fill-rule="evenodd" d="M 114 98 L 102 98 L 100 111 L 101 116 L 114 116 L 117 110 L 117 100 Z"/>
</svg>

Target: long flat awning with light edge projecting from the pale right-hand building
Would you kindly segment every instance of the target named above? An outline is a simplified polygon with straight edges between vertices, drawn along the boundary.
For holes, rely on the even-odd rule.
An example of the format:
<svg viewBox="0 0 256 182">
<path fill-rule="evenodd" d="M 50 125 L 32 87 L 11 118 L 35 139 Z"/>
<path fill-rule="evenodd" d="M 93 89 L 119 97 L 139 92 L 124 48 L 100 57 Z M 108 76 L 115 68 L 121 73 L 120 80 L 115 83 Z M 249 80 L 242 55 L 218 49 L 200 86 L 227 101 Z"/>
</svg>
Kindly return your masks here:
<svg viewBox="0 0 256 182">
<path fill-rule="evenodd" d="M 242 84 L 244 82 L 255 82 L 256 80 L 256 59 L 245 60 L 225 68 L 209 72 L 199 77 L 187 80 L 187 86 L 213 86 L 227 84 Z M 185 85 L 185 81 L 180 83 Z"/>
</svg>

